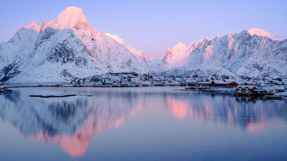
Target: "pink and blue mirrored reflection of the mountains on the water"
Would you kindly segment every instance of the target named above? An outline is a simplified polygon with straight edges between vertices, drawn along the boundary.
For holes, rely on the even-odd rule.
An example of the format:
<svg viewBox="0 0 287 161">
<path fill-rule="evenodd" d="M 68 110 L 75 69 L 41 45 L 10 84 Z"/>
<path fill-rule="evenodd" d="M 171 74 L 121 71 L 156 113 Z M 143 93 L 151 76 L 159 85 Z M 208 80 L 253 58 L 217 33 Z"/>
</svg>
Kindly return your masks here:
<svg viewBox="0 0 287 161">
<path fill-rule="evenodd" d="M 55 92 L 54 88 L 36 89 L 43 93 Z M 84 156 L 93 136 L 107 129 L 120 128 L 127 118 L 146 108 L 164 107 L 180 122 L 190 117 L 200 123 L 212 122 L 216 126 L 240 127 L 246 131 L 260 130 L 272 121 L 286 121 L 287 118 L 286 101 L 152 88 L 82 89 L 57 88 L 63 93 L 83 96 L 30 98 L 31 89 L 22 88 L 0 96 L 0 116 L 3 122 L 11 122 L 19 129 L 23 137 L 59 144 L 73 157 Z M 84 96 L 83 93 L 90 90 L 93 96 Z"/>
</svg>

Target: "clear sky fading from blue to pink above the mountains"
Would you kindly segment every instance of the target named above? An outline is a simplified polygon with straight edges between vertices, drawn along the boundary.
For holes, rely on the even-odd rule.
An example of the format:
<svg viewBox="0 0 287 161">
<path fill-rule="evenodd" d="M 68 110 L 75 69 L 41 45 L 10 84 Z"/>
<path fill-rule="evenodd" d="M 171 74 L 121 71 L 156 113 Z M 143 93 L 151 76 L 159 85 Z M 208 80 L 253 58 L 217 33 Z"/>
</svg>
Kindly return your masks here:
<svg viewBox="0 0 287 161">
<path fill-rule="evenodd" d="M 163 59 L 179 42 L 263 29 L 287 37 L 287 1 L 2 1 L 0 42 L 32 21 L 55 20 L 68 6 L 82 9 L 91 28 L 117 35 L 148 60 Z"/>
</svg>

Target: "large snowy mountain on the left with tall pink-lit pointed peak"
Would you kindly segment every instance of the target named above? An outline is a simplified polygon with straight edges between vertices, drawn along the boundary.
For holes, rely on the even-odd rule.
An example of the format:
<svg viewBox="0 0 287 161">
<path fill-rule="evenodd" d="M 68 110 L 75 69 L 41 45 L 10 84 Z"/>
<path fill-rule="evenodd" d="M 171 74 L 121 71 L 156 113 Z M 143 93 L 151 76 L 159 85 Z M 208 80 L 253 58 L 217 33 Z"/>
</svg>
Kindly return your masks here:
<svg viewBox="0 0 287 161">
<path fill-rule="evenodd" d="M 149 71 L 127 48 L 90 28 L 80 8 L 67 7 L 56 20 L 37 24 L 21 27 L 0 44 L 0 82 L 67 82 L 108 72 Z"/>
</svg>

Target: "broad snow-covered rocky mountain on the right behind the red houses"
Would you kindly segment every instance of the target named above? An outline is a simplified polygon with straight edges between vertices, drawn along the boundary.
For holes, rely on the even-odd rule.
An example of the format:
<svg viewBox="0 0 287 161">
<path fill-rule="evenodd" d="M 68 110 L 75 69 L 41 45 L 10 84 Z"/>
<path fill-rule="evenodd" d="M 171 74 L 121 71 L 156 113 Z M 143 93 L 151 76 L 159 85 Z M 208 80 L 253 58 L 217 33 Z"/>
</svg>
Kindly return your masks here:
<svg viewBox="0 0 287 161">
<path fill-rule="evenodd" d="M 159 70 L 205 65 L 250 77 L 286 77 L 286 55 L 286 38 L 251 28 L 238 34 L 217 35 L 213 40 L 200 40 L 188 47 L 179 43 L 168 50 Z"/>
</svg>

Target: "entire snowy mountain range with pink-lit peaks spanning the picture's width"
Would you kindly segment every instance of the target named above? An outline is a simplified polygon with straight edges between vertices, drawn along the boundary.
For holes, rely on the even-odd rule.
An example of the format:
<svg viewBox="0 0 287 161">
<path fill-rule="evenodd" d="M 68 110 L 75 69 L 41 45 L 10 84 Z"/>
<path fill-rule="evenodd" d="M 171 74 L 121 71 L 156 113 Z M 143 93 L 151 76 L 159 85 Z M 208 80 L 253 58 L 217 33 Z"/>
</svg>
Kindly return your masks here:
<svg viewBox="0 0 287 161">
<path fill-rule="evenodd" d="M 19 27 L 8 42 L 0 43 L 0 82 L 69 82 L 102 73 L 163 72 L 178 67 L 183 72 L 192 68 L 205 73 L 205 67 L 194 69 L 203 66 L 213 68 L 210 71 L 224 68 L 236 75 L 277 78 L 287 77 L 286 54 L 285 37 L 251 28 L 188 46 L 180 42 L 168 49 L 162 61 L 147 63 L 143 51 L 124 47 L 116 35 L 90 28 L 82 9 L 73 6 L 56 20 Z"/>
</svg>

